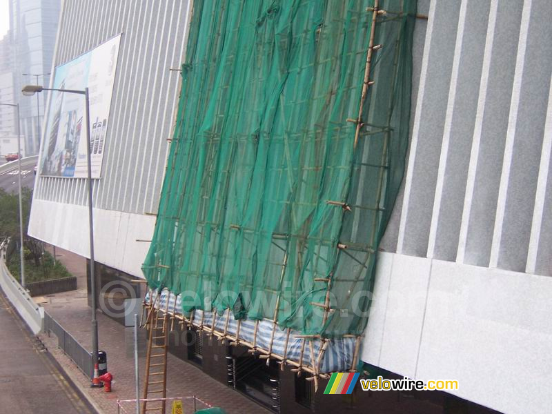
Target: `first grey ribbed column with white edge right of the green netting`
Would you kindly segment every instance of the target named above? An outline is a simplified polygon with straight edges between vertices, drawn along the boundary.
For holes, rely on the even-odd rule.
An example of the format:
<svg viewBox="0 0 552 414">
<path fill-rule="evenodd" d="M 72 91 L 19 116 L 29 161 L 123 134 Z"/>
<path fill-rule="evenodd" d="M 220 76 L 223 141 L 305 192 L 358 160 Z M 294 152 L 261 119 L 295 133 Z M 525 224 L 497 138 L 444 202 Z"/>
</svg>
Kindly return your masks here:
<svg viewBox="0 0 552 414">
<path fill-rule="evenodd" d="M 397 253 L 425 257 L 453 68 L 460 2 L 431 3 L 416 103 Z M 453 29 L 454 27 L 454 29 Z"/>
</svg>

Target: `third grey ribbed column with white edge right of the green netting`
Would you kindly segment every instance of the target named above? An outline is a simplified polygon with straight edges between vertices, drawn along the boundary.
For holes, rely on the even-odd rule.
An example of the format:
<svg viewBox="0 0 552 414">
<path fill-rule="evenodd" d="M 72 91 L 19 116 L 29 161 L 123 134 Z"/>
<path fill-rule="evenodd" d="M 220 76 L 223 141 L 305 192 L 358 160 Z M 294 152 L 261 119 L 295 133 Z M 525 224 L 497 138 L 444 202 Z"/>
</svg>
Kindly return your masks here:
<svg viewBox="0 0 552 414">
<path fill-rule="evenodd" d="M 522 2 L 491 3 L 460 226 L 461 263 L 489 265 L 522 10 Z"/>
</svg>

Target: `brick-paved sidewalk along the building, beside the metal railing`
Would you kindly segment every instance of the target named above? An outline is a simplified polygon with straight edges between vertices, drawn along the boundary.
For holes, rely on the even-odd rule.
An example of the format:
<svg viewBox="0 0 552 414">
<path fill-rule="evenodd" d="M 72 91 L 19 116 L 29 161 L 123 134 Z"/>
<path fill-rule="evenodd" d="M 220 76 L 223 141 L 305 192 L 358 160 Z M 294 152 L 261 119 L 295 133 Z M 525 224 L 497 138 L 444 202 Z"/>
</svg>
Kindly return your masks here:
<svg viewBox="0 0 552 414">
<path fill-rule="evenodd" d="M 48 249 L 51 252 L 51 249 Z M 48 295 L 47 303 L 42 306 L 55 318 L 71 335 L 86 348 L 91 348 L 90 308 L 86 297 L 86 259 L 66 250 L 56 249 L 57 259 L 68 270 L 77 276 L 77 290 L 65 293 Z M 125 328 L 121 324 L 97 313 L 99 326 L 99 348 L 106 351 L 108 356 L 108 370 L 112 373 L 112 393 L 103 392 L 102 388 L 90 388 L 90 380 L 83 375 L 79 368 L 57 348 L 55 335 L 41 335 L 41 339 L 48 346 L 48 350 L 57 359 L 59 364 L 68 373 L 81 391 L 88 396 L 90 402 L 100 413 L 117 413 L 117 399 L 131 400 L 135 398 L 134 350 L 132 328 Z M 140 330 L 141 345 L 145 348 L 146 334 Z M 139 353 L 139 370 L 143 380 L 146 358 L 144 349 Z M 140 392 L 143 382 L 140 382 Z M 261 406 L 248 400 L 247 397 L 228 388 L 212 377 L 204 374 L 192 364 L 181 361 L 168 354 L 167 357 L 167 397 L 184 397 L 196 395 L 213 406 L 224 408 L 227 413 L 268 413 Z M 167 412 L 170 413 L 170 405 Z M 127 406 L 128 413 L 134 413 L 133 406 Z M 201 404 L 197 408 L 205 408 Z M 124 411 L 121 411 L 123 413 Z M 191 402 L 184 404 L 184 412 L 192 413 Z"/>
</svg>

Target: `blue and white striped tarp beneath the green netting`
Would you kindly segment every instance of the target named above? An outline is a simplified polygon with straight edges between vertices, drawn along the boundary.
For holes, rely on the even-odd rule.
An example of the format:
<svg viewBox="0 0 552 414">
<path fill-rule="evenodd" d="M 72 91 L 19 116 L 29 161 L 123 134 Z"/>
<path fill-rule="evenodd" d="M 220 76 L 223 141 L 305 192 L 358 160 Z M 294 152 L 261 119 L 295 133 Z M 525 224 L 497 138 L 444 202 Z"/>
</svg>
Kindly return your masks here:
<svg viewBox="0 0 552 414">
<path fill-rule="evenodd" d="M 168 290 L 164 289 L 161 291 L 161 297 L 159 301 L 156 301 L 157 292 L 154 290 L 152 295 L 152 303 L 156 304 L 156 307 L 160 308 L 161 311 L 167 311 L 170 314 L 182 315 L 181 301 L 180 297 L 169 293 Z M 149 293 L 146 295 L 146 303 L 150 300 Z M 168 308 L 167 308 L 168 300 Z M 230 315 L 228 315 L 230 313 Z M 203 324 L 207 330 L 213 326 L 213 315 L 215 313 L 208 311 L 204 312 L 199 309 L 193 312 L 193 324 L 199 326 Z M 201 318 L 203 317 L 203 321 Z M 226 320 L 228 319 L 228 328 L 226 328 Z M 237 320 L 234 319 L 233 314 L 230 312 L 230 309 L 226 309 L 224 313 L 218 314 L 215 320 L 215 331 L 219 333 L 224 333 L 226 328 L 226 333 L 228 335 L 234 336 L 237 332 Z M 269 319 L 262 319 L 259 321 L 259 326 L 257 327 L 257 336 L 255 337 L 255 321 L 250 319 L 242 319 L 242 322 L 239 326 L 239 339 L 250 342 L 259 348 L 268 350 L 270 348 L 270 338 L 273 335 L 274 322 Z M 324 342 L 322 339 L 313 338 L 313 350 L 311 354 L 311 347 L 308 345 L 304 347 L 303 360 L 299 362 L 301 358 L 301 348 L 304 342 L 303 337 L 297 337 L 296 335 L 301 335 L 297 331 L 291 331 L 288 339 L 288 345 L 286 349 L 286 338 L 288 332 L 286 329 L 281 329 L 276 326 L 274 332 L 274 339 L 272 344 L 272 353 L 284 357 L 284 352 L 286 353 L 286 359 L 290 359 L 297 364 L 301 363 L 304 366 L 315 367 L 318 363 L 317 357 L 320 353 L 322 345 Z M 311 339 L 309 339 L 311 341 Z M 355 337 L 344 337 L 338 339 L 328 339 L 328 345 L 326 346 L 326 351 L 322 355 L 322 361 L 320 361 L 319 373 L 333 373 L 333 372 L 343 372 L 348 371 L 353 364 L 353 357 L 355 353 Z"/>
</svg>

